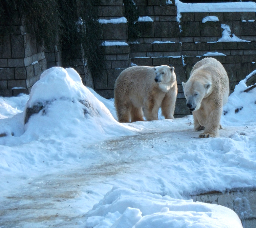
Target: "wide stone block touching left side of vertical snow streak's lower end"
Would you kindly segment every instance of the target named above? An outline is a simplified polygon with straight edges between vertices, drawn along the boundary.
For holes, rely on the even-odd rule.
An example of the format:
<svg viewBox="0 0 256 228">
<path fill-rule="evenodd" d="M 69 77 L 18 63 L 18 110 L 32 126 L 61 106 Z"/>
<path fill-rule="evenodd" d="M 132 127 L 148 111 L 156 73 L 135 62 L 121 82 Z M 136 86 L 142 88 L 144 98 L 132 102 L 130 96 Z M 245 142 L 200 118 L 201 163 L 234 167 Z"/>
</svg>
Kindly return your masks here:
<svg viewBox="0 0 256 228">
<path fill-rule="evenodd" d="M 180 34 L 178 22 L 155 22 L 155 37 L 176 37 Z"/>
</svg>

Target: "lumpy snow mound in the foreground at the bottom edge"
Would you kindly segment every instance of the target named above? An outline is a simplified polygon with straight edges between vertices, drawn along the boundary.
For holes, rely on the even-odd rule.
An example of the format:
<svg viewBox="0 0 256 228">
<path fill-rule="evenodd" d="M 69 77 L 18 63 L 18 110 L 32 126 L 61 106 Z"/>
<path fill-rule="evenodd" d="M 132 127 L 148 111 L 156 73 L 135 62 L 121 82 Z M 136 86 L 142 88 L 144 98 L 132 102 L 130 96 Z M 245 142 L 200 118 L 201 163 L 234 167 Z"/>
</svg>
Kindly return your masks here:
<svg viewBox="0 0 256 228">
<path fill-rule="evenodd" d="M 94 205 L 87 217 L 86 228 L 242 227 L 235 212 L 220 205 L 118 187 Z"/>
</svg>

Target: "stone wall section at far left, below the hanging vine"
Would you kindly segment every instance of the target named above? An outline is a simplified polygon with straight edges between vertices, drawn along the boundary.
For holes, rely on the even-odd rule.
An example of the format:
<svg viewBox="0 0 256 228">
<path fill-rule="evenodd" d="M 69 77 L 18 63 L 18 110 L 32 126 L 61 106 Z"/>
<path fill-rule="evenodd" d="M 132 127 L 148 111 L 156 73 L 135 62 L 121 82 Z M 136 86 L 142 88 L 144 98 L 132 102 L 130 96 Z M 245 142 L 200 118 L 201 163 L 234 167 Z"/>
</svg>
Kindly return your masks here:
<svg viewBox="0 0 256 228">
<path fill-rule="evenodd" d="M 11 34 L 0 34 L 0 96 L 30 93 L 32 85 L 46 70 L 44 51 L 20 20 Z"/>
</svg>

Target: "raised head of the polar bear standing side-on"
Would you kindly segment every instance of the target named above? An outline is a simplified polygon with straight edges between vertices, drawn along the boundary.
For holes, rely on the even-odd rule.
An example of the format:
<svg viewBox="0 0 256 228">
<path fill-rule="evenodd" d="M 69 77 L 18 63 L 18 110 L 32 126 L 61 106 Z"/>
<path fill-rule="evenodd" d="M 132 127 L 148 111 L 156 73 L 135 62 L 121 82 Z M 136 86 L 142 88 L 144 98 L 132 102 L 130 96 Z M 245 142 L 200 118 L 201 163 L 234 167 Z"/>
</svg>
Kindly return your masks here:
<svg viewBox="0 0 256 228">
<path fill-rule="evenodd" d="M 154 67 L 154 70 L 155 70 L 155 82 L 158 83 L 159 88 L 163 92 L 167 93 L 176 82 L 174 67 L 162 65 L 159 67 Z"/>
</svg>

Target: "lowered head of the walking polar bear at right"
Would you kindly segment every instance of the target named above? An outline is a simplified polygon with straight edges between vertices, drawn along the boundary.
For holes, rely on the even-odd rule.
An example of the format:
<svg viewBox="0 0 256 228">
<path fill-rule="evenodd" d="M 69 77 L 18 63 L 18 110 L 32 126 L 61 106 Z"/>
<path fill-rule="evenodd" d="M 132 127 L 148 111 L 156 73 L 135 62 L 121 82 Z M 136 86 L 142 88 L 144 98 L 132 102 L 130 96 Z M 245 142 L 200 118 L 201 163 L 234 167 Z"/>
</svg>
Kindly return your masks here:
<svg viewBox="0 0 256 228">
<path fill-rule="evenodd" d="M 191 112 L 200 109 L 203 98 L 207 97 L 211 91 L 211 82 L 206 80 L 188 80 L 182 82 L 183 91 L 187 100 L 187 107 Z"/>
</svg>

